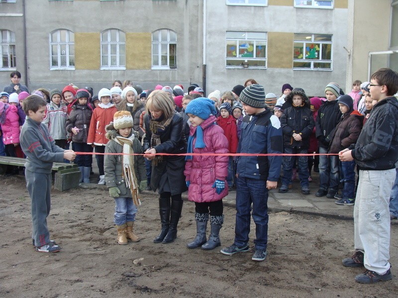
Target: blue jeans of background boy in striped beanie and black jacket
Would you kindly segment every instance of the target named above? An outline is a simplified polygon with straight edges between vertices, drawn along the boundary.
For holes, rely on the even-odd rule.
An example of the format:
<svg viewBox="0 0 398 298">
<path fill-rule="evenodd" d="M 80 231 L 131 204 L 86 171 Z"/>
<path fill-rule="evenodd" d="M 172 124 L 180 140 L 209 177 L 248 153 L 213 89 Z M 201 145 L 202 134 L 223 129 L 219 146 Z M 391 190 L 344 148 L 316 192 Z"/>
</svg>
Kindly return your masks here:
<svg viewBox="0 0 398 298">
<path fill-rule="evenodd" d="M 327 148 L 319 147 L 319 153 L 327 153 Z M 319 188 L 337 191 L 340 181 L 339 176 L 338 156 L 319 155 Z"/>
</svg>

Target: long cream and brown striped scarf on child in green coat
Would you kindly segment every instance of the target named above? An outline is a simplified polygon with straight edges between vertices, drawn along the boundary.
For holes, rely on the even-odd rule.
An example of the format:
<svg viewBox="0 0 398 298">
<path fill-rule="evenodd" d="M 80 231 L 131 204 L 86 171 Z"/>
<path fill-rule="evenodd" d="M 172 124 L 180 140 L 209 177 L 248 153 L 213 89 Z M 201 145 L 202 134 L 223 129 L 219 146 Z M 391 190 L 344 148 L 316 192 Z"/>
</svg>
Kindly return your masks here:
<svg viewBox="0 0 398 298">
<path fill-rule="evenodd" d="M 132 146 L 134 140 L 134 133 L 129 138 L 117 136 L 114 141 L 123 146 L 122 164 L 123 164 L 123 178 L 126 181 L 127 188 L 131 191 L 131 196 L 135 206 L 141 205 L 141 200 L 138 194 L 138 181 L 134 171 L 134 153 Z"/>
</svg>

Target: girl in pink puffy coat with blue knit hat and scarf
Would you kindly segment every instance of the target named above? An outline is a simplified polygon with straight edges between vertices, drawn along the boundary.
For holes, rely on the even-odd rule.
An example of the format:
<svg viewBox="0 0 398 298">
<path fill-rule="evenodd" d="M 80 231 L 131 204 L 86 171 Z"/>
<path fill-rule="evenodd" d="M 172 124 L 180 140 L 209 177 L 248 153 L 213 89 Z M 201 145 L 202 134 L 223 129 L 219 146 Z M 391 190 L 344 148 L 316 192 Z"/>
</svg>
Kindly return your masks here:
<svg viewBox="0 0 398 298">
<path fill-rule="evenodd" d="M 228 153 L 228 141 L 221 127 L 216 125 L 214 102 L 199 97 L 192 100 L 185 113 L 191 122 L 188 153 Z M 219 232 L 224 222 L 222 198 L 228 194 L 228 156 L 187 156 L 185 171 L 188 199 L 195 202 L 197 235 L 187 244 L 189 248 L 210 250 L 221 245 Z M 206 227 L 210 212 L 210 236 Z"/>
</svg>

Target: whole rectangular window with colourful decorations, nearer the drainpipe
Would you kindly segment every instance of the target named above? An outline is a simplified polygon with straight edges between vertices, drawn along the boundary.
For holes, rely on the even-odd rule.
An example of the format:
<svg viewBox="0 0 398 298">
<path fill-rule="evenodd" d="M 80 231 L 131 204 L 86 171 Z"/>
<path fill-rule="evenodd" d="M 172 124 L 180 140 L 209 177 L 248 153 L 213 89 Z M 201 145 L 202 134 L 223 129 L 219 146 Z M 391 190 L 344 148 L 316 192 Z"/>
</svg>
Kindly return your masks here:
<svg viewBox="0 0 398 298">
<path fill-rule="evenodd" d="M 267 33 L 235 32 L 226 33 L 227 68 L 266 68 Z"/>
</svg>

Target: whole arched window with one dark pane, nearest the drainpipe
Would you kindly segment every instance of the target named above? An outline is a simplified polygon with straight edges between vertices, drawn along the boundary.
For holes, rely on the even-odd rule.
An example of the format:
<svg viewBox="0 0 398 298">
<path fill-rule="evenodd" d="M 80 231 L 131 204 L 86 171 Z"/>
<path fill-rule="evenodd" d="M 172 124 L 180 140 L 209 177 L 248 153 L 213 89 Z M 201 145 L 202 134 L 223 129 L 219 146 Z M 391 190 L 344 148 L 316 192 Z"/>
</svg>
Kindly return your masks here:
<svg viewBox="0 0 398 298">
<path fill-rule="evenodd" d="M 152 33 L 152 69 L 177 68 L 177 34 L 160 29 Z"/>
</svg>

